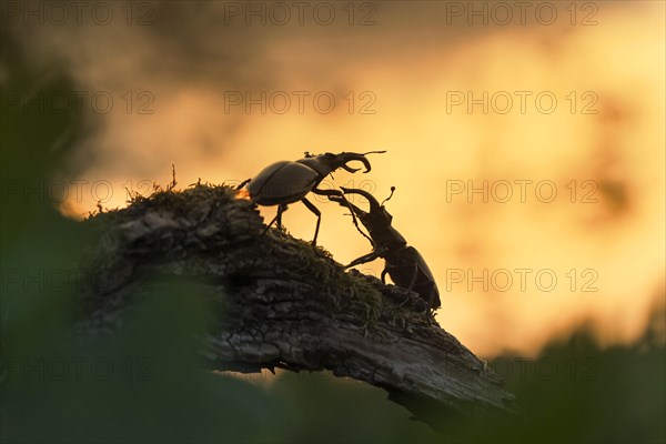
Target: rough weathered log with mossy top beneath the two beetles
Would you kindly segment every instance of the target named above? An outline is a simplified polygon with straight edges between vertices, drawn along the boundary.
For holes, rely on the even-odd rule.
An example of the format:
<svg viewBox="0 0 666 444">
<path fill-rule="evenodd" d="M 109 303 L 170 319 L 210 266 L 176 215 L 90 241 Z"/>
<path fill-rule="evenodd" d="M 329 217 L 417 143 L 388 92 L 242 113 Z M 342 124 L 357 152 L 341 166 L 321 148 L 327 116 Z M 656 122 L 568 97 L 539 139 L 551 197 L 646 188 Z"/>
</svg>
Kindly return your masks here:
<svg viewBox="0 0 666 444">
<path fill-rule="evenodd" d="M 188 276 L 216 306 L 202 344 L 212 369 L 330 370 L 385 389 L 431 425 L 515 407 L 415 293 L 345 272 L 278 230 L 262 236 L 256 209 L 229 188 L 159 192 L 85 224 L 103 230 L 93 259 L 101 279 L 82 300 L 87 331 L 120 325 L 147 276 Z"/>
</svg>

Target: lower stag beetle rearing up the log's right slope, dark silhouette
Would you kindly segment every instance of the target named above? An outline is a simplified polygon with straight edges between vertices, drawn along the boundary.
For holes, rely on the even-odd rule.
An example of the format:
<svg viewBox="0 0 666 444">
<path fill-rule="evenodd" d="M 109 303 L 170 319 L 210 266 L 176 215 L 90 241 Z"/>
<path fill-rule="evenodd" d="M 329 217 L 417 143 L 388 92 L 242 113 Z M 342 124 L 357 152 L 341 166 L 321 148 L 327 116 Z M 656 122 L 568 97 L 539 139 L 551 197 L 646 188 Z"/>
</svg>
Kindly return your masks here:
<svg viewBox="0 0 666 444">
<path fill-rule="evenodd" d="M 342 186 L 341 189 L 345 194 L 361 194 L 370 202 L 370 212 L 365 212 L 339 195 L 329 196 L 330 200 L 351 208 L 352 212 L 356 214 L 356 218 L 370 232 L 373 243 L 371 253 L 352 261 L 345 269 L 374 261 L 377 258 L 384 258 L 386 265 L 382 271 L 383 283 L 386 283 L 386 273 L 389 273 L 396 285 L 418 293 L 427 302 L 428 309 L 440 307 L 442 305 L 440 291 L 433 273 L 427 268 L 421 253 L 415 248 L 407 246 L 405 238 L 391 226 L 393 216 L 384 209 L 384 202 L 393 196 L 395 186 L 391 186 L 391 195 L 382 204 L 364 190 Z"/>
</svg>

